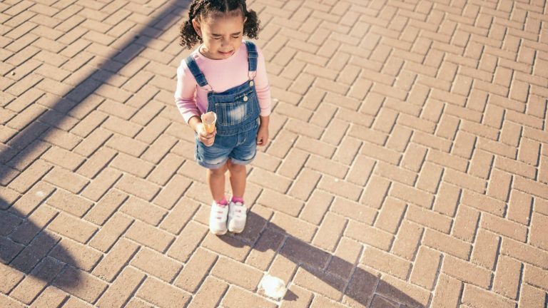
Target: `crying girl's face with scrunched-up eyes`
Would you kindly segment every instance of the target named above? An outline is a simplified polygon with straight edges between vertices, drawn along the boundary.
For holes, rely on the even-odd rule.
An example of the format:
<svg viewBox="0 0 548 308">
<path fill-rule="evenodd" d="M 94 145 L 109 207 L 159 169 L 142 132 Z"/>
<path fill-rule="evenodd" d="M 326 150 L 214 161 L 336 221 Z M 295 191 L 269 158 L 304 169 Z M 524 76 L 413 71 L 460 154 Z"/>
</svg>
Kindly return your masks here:
<svg viewBox="0 0 548 308">
<path fill-rule="evenodd" d="M 232 56 L 242 43 L 244 21 L 239 11 L 193 19 L 194 29 L 203 40 L 201 53 L 215 60 Z"/>
</svg>

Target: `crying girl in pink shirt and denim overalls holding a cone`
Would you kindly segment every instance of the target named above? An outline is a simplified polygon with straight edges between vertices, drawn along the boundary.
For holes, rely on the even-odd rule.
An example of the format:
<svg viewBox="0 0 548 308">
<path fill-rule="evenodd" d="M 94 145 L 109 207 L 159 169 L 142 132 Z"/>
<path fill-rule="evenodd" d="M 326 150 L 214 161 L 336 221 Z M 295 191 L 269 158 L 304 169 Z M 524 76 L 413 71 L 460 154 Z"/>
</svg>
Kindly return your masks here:
<svg viewBox="0 0 548 308">
<path fill-rule="evenodd" d="M 257 39 L 259 21 L 245 0 L 193 0 L 181 26 L 181 45 L 201 43 L 177 70 L 175 101 L 196 132 L 196 160 L 207 168 L 213 203 L 209 228 L 215 235 L 245 227 L 245 165 L 257 145 L 268 142 L 270 87 L 263 53 L 243 36 Z M 201 115 L 213 111 L 217 122 L 207 133 Z M 225 172 L 232 197 L 225 197 Z"/>
</svg>

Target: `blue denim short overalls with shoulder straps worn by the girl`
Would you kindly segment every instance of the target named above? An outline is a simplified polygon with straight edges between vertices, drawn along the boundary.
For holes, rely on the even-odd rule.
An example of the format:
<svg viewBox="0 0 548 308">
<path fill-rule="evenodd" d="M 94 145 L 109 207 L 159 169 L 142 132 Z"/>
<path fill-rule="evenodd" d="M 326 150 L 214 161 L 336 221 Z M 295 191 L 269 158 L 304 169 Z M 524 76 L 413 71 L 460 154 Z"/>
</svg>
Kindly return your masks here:
<svg viewBox="0 0 548 308">
<path fill-rule="evenodd" d="M 208 87 L 207 111 L 217 113 L 217 134 L 213 145 L 206 147 L 195 134 L 196 160 L 205 168 L 220 168 L 228 158 L 240 165 L 255 158 L 260 107 L 253 78 L 257 71 L 258 53 L 253 43 L 245 41 L 245 46 L 248 49 L 249 80 L 221 93 L 213 91 L 192 56 L 185 59 L 196 83 L 202 88 Z"/>
</svg>

